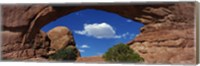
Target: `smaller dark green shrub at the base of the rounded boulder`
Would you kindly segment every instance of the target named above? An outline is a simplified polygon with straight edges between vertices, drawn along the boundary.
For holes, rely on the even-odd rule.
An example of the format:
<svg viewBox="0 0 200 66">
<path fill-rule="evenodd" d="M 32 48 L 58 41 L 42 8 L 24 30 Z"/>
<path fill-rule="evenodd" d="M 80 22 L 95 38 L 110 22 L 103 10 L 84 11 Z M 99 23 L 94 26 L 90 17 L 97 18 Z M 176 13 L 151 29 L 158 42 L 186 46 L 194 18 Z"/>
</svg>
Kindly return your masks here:
<svg viewBox="0 0 200 66">
<path fill-rule="evenodd" d="M 77 53 L 75 48 L 69 46 L 50 55 L 49 58 L 58 61 L 74 61 L 77 58 Z"/>
</svg>

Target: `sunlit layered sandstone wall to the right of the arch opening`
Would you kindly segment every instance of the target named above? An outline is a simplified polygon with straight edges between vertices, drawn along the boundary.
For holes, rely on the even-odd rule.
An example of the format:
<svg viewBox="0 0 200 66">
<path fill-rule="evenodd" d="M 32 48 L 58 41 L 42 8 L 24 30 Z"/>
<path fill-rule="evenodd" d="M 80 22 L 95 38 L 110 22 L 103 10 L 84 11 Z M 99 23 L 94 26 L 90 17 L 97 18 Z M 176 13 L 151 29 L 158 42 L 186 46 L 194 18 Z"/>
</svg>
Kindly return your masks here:
<svg viewBox="0 0 200 66">
<path fill-rule="evenodd" d="M 194 4 L 149 7 L 143 11 L 152 15 L 136 18 L 145 26 L 129 45 L 145 63 L 196 63 Z"/>
</svg>

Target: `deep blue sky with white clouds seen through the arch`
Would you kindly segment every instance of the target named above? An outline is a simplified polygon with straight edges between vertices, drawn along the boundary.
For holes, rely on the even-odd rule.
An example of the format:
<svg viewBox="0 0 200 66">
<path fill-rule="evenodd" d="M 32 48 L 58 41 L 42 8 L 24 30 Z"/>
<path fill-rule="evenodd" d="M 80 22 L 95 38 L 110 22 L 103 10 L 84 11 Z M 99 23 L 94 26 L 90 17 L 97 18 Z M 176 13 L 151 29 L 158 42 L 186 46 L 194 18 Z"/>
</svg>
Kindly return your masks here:
<svg viewBox="0 0 200 66">
<path fill-rule="evenodd" d="M 84 9 L 58 18 L 41 29 L 48 32 L 56 26 L 68 27 L 82 57 L 105 53 L 118 43 L 127 43 L 140 33 L 143 24 L 118 14 Z"/>
</svg>

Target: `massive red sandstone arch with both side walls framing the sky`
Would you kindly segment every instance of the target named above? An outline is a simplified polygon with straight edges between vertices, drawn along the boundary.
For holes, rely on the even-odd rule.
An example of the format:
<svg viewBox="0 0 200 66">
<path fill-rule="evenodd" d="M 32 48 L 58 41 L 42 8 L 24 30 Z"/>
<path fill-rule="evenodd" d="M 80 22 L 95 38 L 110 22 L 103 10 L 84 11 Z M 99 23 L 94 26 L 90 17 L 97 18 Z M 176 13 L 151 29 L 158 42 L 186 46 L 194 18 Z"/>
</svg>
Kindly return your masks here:
<svg viewBox="0 0 200 66">
<path fill-rule="evenodd" d="M 194 7 L 194 3 L 3 5 L 2 56 L 5 59 L 45 57 L 46 53 L 40 52 L 49 53 L 51 40 L 40 28 L 71 12 L 93 8 L 116 13 L 144 24 L 141 34 L 128 45 L 138 52 L 146 63 L 196 63 Z M 38 43 L 44 46 L 33 49 Z"/>
</svg>

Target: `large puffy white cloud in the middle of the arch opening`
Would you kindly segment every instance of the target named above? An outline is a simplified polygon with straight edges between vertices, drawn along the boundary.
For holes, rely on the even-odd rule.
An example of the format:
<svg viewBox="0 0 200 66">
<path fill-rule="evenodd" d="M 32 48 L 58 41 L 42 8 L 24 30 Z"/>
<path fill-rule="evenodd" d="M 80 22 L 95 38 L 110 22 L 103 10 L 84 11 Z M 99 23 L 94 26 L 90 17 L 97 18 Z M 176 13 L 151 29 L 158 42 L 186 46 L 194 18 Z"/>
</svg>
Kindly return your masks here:
<svg viewBox="0 0 200 66">
<path fill-rule="evenodd" d="M 84 30 L 75 31 L 75 33 L 80 35 L 92 36 L 98 39 L 120 38 L 120 36 L 116 35 L 113 27 L 107 23 L 84 24 Z"/>
</svg>

